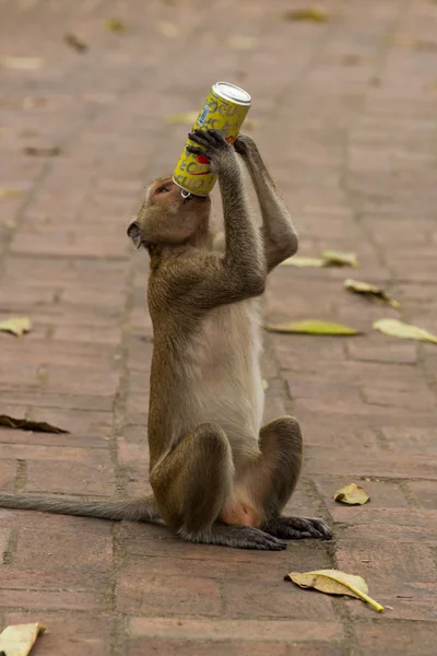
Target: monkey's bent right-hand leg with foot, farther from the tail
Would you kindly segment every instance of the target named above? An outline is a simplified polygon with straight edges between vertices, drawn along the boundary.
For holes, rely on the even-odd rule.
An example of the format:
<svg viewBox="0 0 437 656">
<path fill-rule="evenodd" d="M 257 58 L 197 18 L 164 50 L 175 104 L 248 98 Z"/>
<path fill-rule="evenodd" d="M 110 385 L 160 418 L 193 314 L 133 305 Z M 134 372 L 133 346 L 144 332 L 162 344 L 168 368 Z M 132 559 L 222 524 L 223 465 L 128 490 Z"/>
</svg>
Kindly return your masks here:
<svg viewBox="0 0 437 656">
<path fill-rule="evenodd" d="M 280 417 L 260 432 L 261 461 L 250 472 L 251 494 L 264 508 L 264 531 L 282 539 L 299 540 L 332 535 L 321 519 L 282 517 L 281 511 L 292 496 L 300 473 L 303 441 L 293 417 Z"/>
</svg>

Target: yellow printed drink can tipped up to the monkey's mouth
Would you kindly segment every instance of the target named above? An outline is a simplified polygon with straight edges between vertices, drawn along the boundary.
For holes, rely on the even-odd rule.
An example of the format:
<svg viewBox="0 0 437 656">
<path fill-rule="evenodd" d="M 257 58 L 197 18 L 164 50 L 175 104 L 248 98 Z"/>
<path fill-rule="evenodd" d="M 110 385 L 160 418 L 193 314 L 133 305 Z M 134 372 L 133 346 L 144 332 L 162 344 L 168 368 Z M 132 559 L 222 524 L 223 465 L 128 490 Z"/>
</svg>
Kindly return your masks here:
<svg viewBox="0 0 437 656">
<path fill-rule="evenodd" d="M 249 112 L 250 104 L 251 97 L 246 91 L 228 82 L 217 82 L 211 89 L 192 130 L 217 130 L 227 143 L 233 144 Z M 188 139 L 176 164 L 173 179 L 182 189 L 182 192 L 208 196 L 214 187 L 217 176 L 211 173 L 205 155 L 188 153 L 187 145 L 199 147 L 198 143 Z"/>
</svg>

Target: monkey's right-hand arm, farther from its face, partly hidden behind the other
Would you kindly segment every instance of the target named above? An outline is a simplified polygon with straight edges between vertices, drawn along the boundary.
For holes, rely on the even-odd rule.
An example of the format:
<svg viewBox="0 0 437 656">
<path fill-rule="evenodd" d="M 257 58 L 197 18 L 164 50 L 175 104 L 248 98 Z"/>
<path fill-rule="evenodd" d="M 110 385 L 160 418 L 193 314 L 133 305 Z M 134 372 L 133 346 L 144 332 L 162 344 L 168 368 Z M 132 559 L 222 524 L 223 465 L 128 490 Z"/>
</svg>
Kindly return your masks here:
<svg viewBox="0 0 437 656">
<path fill-rule="evenodd" d="M 241 155 L 257 192 L 262 214 L 265 261 L 270 272 L 296 253 L 297 233 L 255 141 L 246 134 L 239 134 L 235 141 L 235 150 Z"/>
</svg>

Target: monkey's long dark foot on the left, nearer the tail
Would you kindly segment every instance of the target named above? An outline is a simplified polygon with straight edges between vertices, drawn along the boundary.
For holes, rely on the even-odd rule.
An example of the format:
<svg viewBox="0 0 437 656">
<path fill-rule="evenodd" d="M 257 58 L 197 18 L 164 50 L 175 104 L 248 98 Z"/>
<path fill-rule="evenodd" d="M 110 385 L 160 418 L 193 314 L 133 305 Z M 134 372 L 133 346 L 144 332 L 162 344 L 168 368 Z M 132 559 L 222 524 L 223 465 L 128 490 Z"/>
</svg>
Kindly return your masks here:
<svg viewBox="0 0 437 656">
<path fill-rule="evenodd" d="M 285 542 L 251 526 L 214 524 L 208 531 L 188 534 L 180 530 L 179 535 L 189 542 L 221 544 L 234 549 L 257 549 L 258 551 L 282 551 L 286 549 Z"/>
</svg>

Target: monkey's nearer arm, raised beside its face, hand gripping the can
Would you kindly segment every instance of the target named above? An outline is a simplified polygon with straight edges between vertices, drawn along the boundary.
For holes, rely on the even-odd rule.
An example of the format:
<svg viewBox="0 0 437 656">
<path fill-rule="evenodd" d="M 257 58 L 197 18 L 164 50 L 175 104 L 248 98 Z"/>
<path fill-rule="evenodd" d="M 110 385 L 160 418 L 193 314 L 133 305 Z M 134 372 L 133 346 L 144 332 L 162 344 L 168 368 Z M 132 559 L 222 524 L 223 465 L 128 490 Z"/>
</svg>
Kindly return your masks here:
<svg viewBox="0 0 437 656">
<path fill-rule="evenodd" d="M 189 152 L 206 154 L 211 168 L 218 175 L 225 224 L 225 253 L 191 254 L 172 262 L 168 276 L 184 302 L 212 307 L 262 294 L 265 286 L 265 257 L 258 227 L 255 225 L 244 189 L 240 165 L 235 150 L 214 130 L 196 130 L 190 139 L 203 147 L 188 147 Z"/>
</svg>

